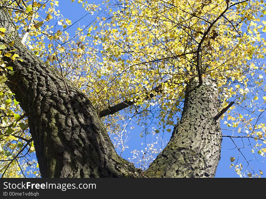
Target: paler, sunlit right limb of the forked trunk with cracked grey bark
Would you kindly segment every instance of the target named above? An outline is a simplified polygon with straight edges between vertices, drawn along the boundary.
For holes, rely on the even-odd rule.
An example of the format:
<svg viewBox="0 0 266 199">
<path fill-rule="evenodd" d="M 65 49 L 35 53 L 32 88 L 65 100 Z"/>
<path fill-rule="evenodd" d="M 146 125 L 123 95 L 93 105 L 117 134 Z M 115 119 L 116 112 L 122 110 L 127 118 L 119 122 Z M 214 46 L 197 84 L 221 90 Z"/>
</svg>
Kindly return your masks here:
<svg viewBox="0 0 266 199">
<path fill-rule="evenodd" d="M 220 160 L 222 132 L 216 85 L 203 78 L 186 88 L 182 118 L 170 142 L 144 172 L 150 177 L 214 177 Z"/>
</svg>

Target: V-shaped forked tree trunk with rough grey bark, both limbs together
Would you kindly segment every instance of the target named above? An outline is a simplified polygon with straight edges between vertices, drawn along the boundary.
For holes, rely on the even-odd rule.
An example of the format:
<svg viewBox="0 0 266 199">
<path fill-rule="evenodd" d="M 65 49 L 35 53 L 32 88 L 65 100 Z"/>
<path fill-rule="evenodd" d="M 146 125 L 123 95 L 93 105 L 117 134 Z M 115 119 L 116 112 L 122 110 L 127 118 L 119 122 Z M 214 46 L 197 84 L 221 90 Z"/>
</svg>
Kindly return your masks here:
<svg viewBox="0 0 266 199">
<path fill-rule="evenodd" d="M 187 86 L 184 111 L 167 147 L 144 173 L 115 152 L 86 96 L 70 81 L 66 85 L 49 65 L 25 48 L 15 25 L 0 7 L 0 44 L 15 41 L 21 61 L 11 61 L 14 75 L 6 84 L 28 116 L 42 177 L 213 177 L 220 158 L 219 101 L 211 81 Z M 12 35 L 8 37 L 8 35 Z"/>
</svg>

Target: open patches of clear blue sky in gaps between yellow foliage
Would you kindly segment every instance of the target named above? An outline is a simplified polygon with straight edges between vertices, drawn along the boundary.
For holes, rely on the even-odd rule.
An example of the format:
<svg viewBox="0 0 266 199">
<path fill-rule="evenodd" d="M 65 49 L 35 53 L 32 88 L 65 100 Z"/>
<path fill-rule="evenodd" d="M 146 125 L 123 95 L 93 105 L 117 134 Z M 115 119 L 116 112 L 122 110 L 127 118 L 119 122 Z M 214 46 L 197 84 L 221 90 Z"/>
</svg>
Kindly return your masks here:
<svg viewBox="0 0 266 199">
<path fill-rule="evenodd" d="M 59 1 L 59 9 L 61 14 L 65 17 L 68 18 L 73 22 L 77 21 L 79 18 L 87 14 L 87 12 L 82 8 L 80 4 L 76 2 L 70 3 L 71 0 L 60 0 Z M 90 3 L 92 3 L 91 1 Z M 94 1 L 96 4 L 100 3 L 101 1 Z M 92 19 L 95 18 L 95 15 L 87 15 L 85 18 L 79 21 L 79 23 L 76 23 L 73 25 L 71 28 L 68 29 L 68 32 L 70 34 L 74 34 L 74 31 L 79 25 L 86 25 L 86 23 L 90 22 Z M 264 77 L 265 78 L 265 77 Z M 265 121 L 264 121 L 265 122 Z M 223 124 L 224 121 L 221 121 L 221 128 L 228 129 L 227 124 Z M 130 127 L 134 127 L 134 129 L 131 129 Z M 173 127 L 172 127 L 173 129 Z M 122 153 L 122 157 L 127 159 L 132 158 L 132 153 L 131 151 L 133 149 L 137 149 L 141 151 L 142 149 L 144 150 L 145 148 L 145 138 L 141 138 L 139 136 L 139 132 L 141 131 L 140 127 L 134 124 L 134 122 L 131 122 L 130 125 L 128 125 L 127 128 L 128 131 L 128 137 L 129 140 L 126 143 L 128 145 L 128 148 Z M 231 131 L 222 131 L 223 134 L 228 134 L 231 135 Z M 160 134 L 162 136 L 162 134 Z M 171 133 L 165 132 L 164 133 L 164 143 L 169 141 L 171 136 Z M 148 135 L 146 137 L 146 142 L 148 142 L 151 138 L 151 135 Z M 234 139 L 235 143 L 239 145 L 239 147 L 242 147 L 242 140 L 240 138 L 235 138 Z M 142 144 L 141 144 L 142 143 Z M 248 145 L 247 141 L 244 141 L 244 146 Z M 253 146 L 253 144 L 251 144 Z M 266 159 L 265 157 L 262 157 L 258 154 L 255 154 L 255 156 L 250 152 L 252 146 L 248 146 L 246 148 L 241 149 L 243 154 L 246 154 L 246 159 L 250 161 L 249 163 L 252 165 L 252 168 L 256 173 L 259 173 L 259 169 L 266 168 Z M 222 140 L 222 151 L 221 151 L 221 160 L 219 161 L 219 165 L 217 167 L 216 171 L 216 177 L 238 177 L 238 175 L 235 173 L 235 171 L 232 169 L 229 169 L 229 166 L 231 164 L 230 162 L 230 157 L 235 157 L 236 159 L 239 156 L 238 150 L 235 148 L 235 145 L 231 141 L 230 138 L 223 138 Z M 256 158 L 258 160 L 256 160 Z M 242 157 L 240 154 L 239 156 L 239 163 L 242 163 L 244 165 L 243 169 L 245 169 L 246 164 L 245 164 L 245 159 Z M 248 167 L 247 170 L 250 170 Z M 266 172 L 266 170 L 264 171 Z M 265 175 L 265 174 L 264 174 Z M 264 177 L 264 176 L 262 176 Z"/>
</svg>

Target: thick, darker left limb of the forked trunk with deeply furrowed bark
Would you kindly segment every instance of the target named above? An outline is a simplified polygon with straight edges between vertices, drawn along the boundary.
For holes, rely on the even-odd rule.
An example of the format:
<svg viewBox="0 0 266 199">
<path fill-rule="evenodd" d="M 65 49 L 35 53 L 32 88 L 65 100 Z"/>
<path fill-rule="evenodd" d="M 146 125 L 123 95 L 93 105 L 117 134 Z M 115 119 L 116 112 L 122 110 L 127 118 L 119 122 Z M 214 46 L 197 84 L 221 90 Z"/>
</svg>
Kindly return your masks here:
<svg viewBox="0 0 266 199">
<path fill-rule="evenodd" d="M 15 26 L 0 8 L 0 27 L 10 35 Z M 14 75 L 6 82 L 28 116 L 30 133 L 42 177 L 140 177 L 141 170 L 117 155 L 99 116 L 86 96 L 70 81 L 69 95 L 60 75 L 25 48 L 17 31 L 15 41 L 23 60 L 11 61 Z"/>
</svg>

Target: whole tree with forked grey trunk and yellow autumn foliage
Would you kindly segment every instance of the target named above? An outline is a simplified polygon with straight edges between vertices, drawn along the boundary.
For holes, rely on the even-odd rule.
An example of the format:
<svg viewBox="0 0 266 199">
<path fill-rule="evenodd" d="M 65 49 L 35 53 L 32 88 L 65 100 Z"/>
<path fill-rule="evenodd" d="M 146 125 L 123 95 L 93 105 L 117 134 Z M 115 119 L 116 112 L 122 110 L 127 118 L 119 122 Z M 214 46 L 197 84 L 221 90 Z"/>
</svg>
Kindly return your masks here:
<svg viewBox="0 0 266 199">
<path fill-rule="evenodd" d="M 242 125 L 237 131 L 244 135 L 235 137 L 255 140 L 264 155 L 265 124 L 258 122 L 265 109 L 255 104 L 258 96 L 251 99 L 250 114 L 233 111 L 254 88 L 259 95 L 265 90 L 264 65 L 258 65 L 265 53 L 263 1 L 122 0 L 103 11 L 79 2 L 99 14 L 70 38 L 71 21 L 60 19 L 57 1 L 2 1 L 4 173 L 12 166 L 21 169 L 15 163 L 29 145 L 42 177 L 214 177 L 219 120 L 228 110 L 232 127 Z M 49 24 L 54 17 L 61 29 Z M 169 143 L 146 171 L 121 158 L 107 134 L 133 111 L 140 118 L 159 112 L 162 130 L 174 125 Z M 182 116 L 174 124 L 177 112 Z M 14 148 L 16 155 L 10 152 Z M 231 166 L 242 174 L 241 164 Z M 252 174 L 259 176 L 247 173 Z"/>
</svg>

